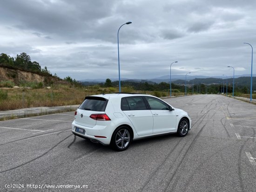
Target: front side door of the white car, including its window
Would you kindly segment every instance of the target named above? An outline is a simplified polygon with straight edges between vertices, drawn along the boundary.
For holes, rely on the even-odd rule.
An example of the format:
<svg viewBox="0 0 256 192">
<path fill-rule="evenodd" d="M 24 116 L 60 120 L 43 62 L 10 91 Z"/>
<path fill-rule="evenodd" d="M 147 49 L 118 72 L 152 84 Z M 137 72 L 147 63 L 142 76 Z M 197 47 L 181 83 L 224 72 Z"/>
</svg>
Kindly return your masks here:
<svg viewBox="0 0 256 192">
<path fill-rule="evenodd" d="M 153 115 L 153 134 L 176 131 L 176 114 L 160 99 L 145 96 Z"/>
</svg>

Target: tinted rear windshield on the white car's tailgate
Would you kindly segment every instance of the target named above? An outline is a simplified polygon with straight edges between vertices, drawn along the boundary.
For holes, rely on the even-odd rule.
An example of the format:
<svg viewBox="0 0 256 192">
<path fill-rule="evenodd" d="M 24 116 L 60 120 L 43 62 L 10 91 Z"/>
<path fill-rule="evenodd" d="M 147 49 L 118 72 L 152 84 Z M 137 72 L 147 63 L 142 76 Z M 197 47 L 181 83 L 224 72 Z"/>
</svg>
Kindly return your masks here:
<svg viewBox="0 0 256 192">
<path fill-rule="evenodd" d="M 108 104 L 108 99 L 102 97 L 86 97 L 79 109 L 88 111 L 104 112 Z"/>
</svg>

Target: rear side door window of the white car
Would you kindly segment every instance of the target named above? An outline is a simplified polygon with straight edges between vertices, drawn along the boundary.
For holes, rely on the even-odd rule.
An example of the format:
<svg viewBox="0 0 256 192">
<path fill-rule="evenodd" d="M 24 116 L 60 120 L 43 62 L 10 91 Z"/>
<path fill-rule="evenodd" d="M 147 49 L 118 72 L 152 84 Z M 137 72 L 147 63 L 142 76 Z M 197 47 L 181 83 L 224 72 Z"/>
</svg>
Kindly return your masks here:
<svg viewBox="0 0 256 192">
<path fill-rule="evenodd" d="M 124 97 L 121 99 L 122 111 L 147 110 L 147 106 L 141 96 Z"/>
</svg>

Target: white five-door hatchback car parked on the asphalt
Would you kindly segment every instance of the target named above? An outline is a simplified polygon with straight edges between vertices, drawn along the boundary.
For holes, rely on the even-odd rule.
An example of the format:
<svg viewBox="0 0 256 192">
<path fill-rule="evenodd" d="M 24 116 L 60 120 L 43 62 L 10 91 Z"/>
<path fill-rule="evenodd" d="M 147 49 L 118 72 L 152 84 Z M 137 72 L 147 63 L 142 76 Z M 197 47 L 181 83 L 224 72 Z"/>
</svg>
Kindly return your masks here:
<svg viewBox="0 0 256 192">
<path fill-rule="evenodd" d="M 72 132 L 117 151 L 135 139 L 168 133 L 184 137 L 191 129 L 189 114 L 151 95 L 115 93 L 85 98 L 74 114 Z"/>
</svg>

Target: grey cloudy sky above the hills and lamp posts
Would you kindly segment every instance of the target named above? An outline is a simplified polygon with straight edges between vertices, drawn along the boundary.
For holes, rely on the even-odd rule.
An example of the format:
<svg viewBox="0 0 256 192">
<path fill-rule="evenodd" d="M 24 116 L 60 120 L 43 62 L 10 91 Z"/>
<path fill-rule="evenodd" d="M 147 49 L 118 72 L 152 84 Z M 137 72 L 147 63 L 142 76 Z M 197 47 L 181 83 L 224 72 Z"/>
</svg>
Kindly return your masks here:
<svg viewBox="0 0 256 192">
<path fill-rule="evenodd" d="M 0 53 L 61 78 L 250 74 L 256 0 L 2 0 Z M 254 62 L 255 63 L 255 62 Z M 256 74 L 256 66 L 253 68 Z"/>
</svg>

